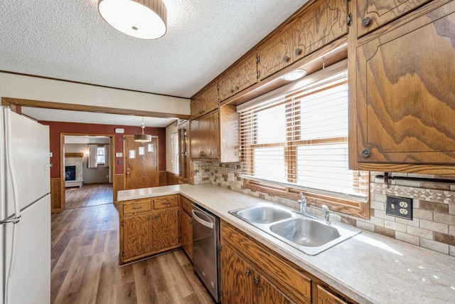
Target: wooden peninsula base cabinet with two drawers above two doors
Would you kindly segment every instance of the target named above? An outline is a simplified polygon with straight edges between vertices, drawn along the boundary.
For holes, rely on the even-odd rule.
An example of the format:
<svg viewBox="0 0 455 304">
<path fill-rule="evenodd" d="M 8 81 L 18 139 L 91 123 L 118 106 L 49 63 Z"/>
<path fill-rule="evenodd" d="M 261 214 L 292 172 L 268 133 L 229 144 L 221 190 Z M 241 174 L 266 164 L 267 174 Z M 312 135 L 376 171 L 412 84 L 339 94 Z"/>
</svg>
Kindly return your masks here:
<svg viewBox="0 0 455 304">
<path fill-rule="evenodd" d="M 120 264 L 181 246 L 179 198 L 177 194 L 120 202 Z"/>
</svg>

